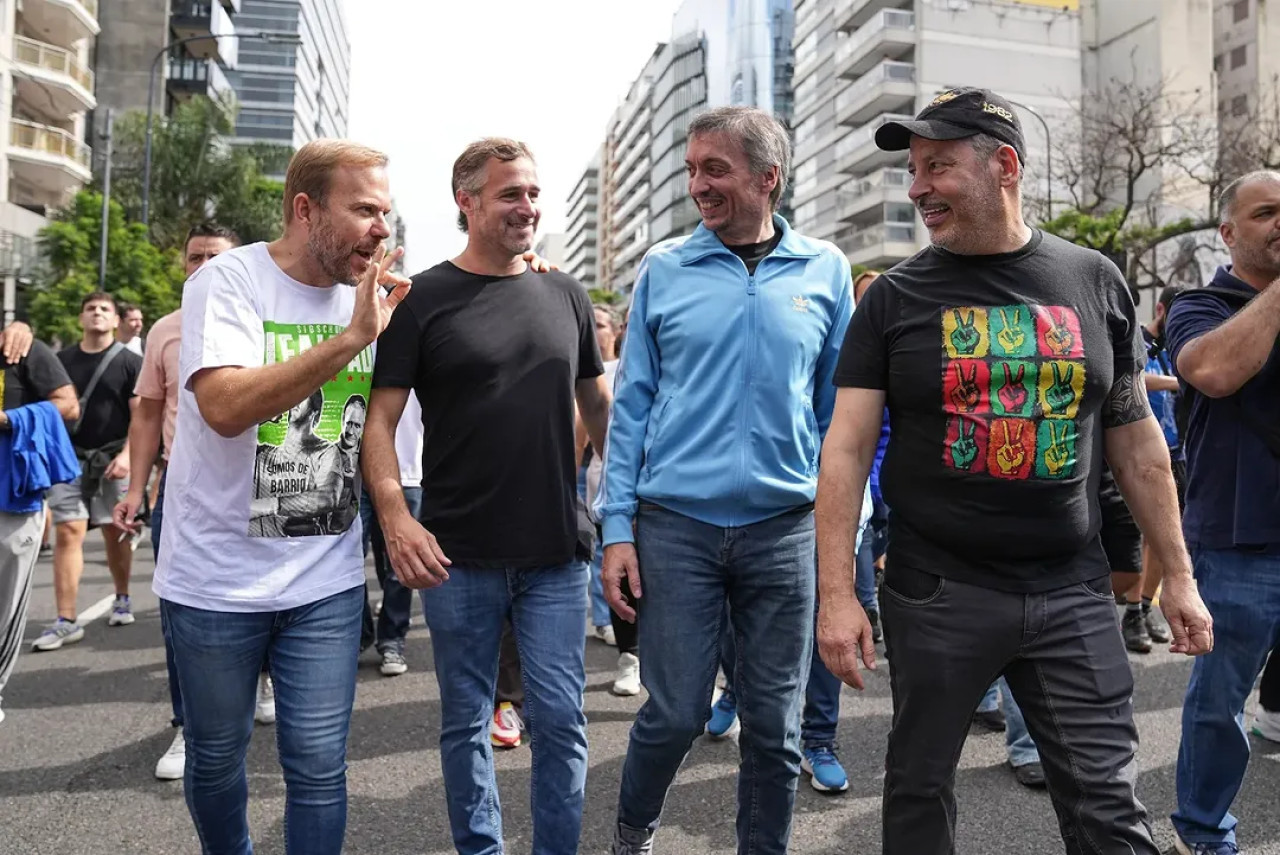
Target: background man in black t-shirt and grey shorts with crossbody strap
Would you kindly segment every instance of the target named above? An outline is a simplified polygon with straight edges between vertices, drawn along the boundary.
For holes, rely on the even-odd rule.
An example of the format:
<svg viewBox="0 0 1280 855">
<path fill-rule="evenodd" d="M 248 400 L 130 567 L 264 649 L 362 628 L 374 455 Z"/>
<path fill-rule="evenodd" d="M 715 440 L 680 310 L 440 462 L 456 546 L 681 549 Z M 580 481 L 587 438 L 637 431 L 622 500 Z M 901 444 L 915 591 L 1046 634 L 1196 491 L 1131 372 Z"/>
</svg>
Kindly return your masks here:
<svg viewBox="0 0 1280 855">
<path fill-rule="evenodd" d="M 36 650 L 58 650 L 84 637 L 76 621 L 81 573 L 84 571 L 84 535 L 91 527 L 102 529 L 106 566 L 115 582 L 115 603 L 108 626 L 133 623 L 129 604 L 129 573 L 133 570 L 133 544 L 111 526 L 111 509 L 129 488 L 129 417 L 137 398 L 142 357 L 115 342 L 120 316 L 115 298 L 96 292 L 81 303 L 79 343 L 59 352 L 58 358 L 76 384 L 83 401 L 79 421 L 72 427 L 72 442 L 83 474 L 70 484 L 55 484 L 49 490 L 49 509 L 58 538 L 54 545 L 54 591 L 58 618 L 36 639 Z M 106 365 L 90 389 L 99 366 Z M 86 397 L 86 392 L 92 394 Z M 146 477 L 140 472 L 138 477 Z"/>
</svg>

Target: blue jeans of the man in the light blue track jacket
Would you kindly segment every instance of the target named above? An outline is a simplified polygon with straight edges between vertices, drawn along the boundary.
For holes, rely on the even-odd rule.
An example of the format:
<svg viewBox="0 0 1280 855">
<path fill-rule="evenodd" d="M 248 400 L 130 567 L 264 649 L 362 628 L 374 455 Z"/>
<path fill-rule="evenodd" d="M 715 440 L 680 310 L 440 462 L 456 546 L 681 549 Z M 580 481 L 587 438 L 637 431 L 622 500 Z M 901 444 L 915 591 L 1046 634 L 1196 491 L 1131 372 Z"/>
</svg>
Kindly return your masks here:
<svg viewBox="0 0 1280 855">
<path fill-rule="evenodd" d="M 641 681 L 649 699 L 631 728 L 618 823 L 658 827 L 671 782 L 708 719 L 727 599 L 742 719 L 739 851 L 785 852 L 813 655 L 813 512 L 722 529 L 641 504 L 636 522 Z"/>
</svg>

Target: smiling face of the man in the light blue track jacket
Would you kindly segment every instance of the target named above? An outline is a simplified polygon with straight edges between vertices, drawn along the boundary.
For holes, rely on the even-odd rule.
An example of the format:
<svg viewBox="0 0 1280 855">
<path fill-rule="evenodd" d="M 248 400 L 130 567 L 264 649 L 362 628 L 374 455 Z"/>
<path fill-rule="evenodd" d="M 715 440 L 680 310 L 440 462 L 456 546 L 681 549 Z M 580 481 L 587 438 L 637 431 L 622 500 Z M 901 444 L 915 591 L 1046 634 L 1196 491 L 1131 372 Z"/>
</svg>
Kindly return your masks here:
<svg viewBox="0 0 1280 855">
<path fill-rule="evenodd" d="M 723 133 L 707 133 L 689 140 L 685 170 L 703 225 L 727 246 L 759 239 L 772 216 L 769 193 L 778 182 L 777 166 L 753 174 L 742 146 Z"/>
</svg>

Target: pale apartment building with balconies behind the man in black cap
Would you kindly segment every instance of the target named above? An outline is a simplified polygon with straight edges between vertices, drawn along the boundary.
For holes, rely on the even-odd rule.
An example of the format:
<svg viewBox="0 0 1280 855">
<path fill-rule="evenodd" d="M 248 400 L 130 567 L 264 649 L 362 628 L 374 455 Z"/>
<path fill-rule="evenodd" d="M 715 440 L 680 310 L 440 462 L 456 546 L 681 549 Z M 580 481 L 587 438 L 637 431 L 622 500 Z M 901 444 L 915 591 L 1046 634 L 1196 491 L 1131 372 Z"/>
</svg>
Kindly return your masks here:
<svg viewBox="0 0 1280 855">
<path fill-rule="evenodd" d="M 1082 90 L 1079 0 L 796 0 L 794 82 L 796 228 L 887 268 L 928 234 L 876 129 L 946 88 L 996 90 L 1024 111 L 1025 187 L 1047 197 L 1048 128 Z"/>
</svg>

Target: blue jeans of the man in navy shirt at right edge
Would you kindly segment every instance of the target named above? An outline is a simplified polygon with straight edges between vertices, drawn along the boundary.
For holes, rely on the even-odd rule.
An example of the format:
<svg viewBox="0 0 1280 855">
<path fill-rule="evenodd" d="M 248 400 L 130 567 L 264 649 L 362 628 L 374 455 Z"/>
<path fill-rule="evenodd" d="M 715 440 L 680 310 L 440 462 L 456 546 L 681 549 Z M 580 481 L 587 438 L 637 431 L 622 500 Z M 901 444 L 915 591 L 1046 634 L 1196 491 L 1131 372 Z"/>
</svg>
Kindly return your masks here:
<svg viewBox="0 0 1280 855">
<path fill-rule="evenodd" d="M 1280 555 L 1197 549 L 1213 651 L 1196 658 L 1183 703 L 1174 828 L 1188 843 L 1235 842 L 1231 803 L 1249 763 L 1244 703 L 1280 643 Z"/>
</svg>

